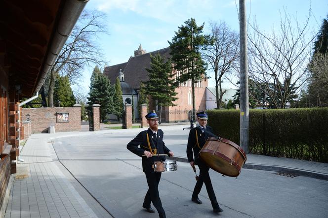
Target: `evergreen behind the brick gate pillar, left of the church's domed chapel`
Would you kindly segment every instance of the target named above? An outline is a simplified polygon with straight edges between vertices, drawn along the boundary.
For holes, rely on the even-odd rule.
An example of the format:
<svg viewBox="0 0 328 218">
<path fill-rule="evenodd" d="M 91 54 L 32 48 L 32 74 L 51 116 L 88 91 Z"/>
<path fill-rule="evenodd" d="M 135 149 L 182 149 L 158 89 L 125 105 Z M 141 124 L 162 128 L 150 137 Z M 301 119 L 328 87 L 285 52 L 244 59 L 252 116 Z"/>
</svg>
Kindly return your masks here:
<svg viewBox="0 0 328 218">
<path fill-rule="evenodd" d="M 113 96 L 115 90 L 107 76 L 101 73 L 98 66 L 92 72 L 88 104 L 100 104 L 100 120 L 103 122 L 108 114 L 114 113 Z"/>
</svg>

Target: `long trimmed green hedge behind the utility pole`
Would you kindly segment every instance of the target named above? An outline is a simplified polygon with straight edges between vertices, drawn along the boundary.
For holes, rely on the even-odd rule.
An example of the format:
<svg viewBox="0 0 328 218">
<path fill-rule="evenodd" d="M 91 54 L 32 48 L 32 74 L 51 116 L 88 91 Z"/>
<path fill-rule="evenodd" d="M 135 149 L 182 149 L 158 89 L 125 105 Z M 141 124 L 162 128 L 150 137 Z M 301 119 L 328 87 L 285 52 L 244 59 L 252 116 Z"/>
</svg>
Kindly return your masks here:
<svg viewBox="0 0 328 218">
<path fill-rule="evenodd" d="M 209 110 L 214 132 L 239 144 L 240 111 Z M 328 108 L 249 110 L 249 153 L 328 163 Z"/>
</svg>

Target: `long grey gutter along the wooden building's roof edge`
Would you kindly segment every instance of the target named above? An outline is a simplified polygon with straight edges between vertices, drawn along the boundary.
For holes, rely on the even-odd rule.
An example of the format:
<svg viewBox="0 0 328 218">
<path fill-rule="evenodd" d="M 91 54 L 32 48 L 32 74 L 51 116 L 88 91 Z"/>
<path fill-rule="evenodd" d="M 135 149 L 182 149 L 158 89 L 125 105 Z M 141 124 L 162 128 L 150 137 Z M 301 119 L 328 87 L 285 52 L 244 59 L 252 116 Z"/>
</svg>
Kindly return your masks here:
<svg viewBox="0 0 328 218">
<path fill-rule="evenodd" d="M 50 49 L 47 52 L 46 61 L 41 70 L 41 75 L 39 77 L 39 82 L 37 83 L 36 92 L 41 89 L 45 78 L 48 75 L 49 70 L 55 63 L 61 49 L 71 34 L 76 22 L 78 21 L 82 10 L 89 0 L 67 0 L 60 17 L 59 23 L 56 28 L 56 32 L 52 39 Z"/>
</svg>

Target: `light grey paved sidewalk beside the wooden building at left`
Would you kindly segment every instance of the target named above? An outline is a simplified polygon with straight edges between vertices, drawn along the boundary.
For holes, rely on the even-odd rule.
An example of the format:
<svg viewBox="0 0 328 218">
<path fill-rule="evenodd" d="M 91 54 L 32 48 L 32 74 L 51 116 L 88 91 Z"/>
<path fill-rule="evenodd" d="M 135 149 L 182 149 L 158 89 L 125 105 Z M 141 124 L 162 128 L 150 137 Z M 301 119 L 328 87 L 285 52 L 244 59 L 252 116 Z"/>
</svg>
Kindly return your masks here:
<svg viewBox="0 0 328 218">
<path fill-rule="evenodd" d="M 21 150 L 5 218 L 96 218 L 56 166 L 48 140 L 72 133 L 33 134 Z M 77 133 L 81 134 L 81 133 Z"/>
</svg>

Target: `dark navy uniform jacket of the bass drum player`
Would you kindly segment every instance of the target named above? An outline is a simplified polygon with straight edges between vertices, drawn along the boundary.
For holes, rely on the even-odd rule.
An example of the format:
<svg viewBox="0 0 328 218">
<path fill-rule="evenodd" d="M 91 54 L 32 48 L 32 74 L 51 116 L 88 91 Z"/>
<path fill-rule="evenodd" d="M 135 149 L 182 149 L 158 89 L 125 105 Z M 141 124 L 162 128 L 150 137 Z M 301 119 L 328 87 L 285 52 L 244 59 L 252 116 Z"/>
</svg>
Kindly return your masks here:
<svg viewBox="0 0 328 218">
<path fill-rule="evenodd" d="M 213 133 L 213 129 L 209 125 L 206 125 L 206 131 L 204 131 L 204 133 L 202 132 L 201 127 L 199 126 L 190 129 L 189 137 L 188 137 L 188 145 L 187 145 L 187 157 L 188 157 L 188 162 L 195 161 L 195 164 L 197 164 L 198 162 L 198 154 L 201 151 L 201 149 L 197 146 L 196 131 L 197 131 L 199 146 L 203 148 L 207 138 L 210 137 L 210 135 L 207 134 L 206 131 Z M 194 150 L 195 160 L 193 157 L 193 150 Z"/>
</svg>

